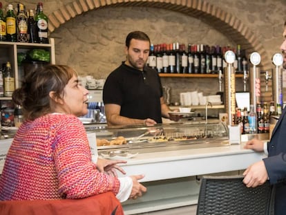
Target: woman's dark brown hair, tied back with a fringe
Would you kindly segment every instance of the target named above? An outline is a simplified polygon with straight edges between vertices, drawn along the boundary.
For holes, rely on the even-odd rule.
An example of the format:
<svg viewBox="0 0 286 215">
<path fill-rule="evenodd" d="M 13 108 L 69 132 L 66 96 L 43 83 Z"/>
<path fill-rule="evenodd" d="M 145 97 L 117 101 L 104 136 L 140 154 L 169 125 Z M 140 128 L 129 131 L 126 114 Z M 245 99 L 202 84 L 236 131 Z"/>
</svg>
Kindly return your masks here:
<svg viewBox="0 0 286 215">
<path fill-rule="evenodd" d="M 63 97 L 68 81 L 77 73 L 65 65 L 53 65 L 37 68 L 28 73 L 13 95 L 15 104 L 23 106 L 23 116 L 26 120 L 35 120 L 41 115 L 50 113 L 51 98 L 49 93 L 55 92 L 56 97 Z"/>
</svg>

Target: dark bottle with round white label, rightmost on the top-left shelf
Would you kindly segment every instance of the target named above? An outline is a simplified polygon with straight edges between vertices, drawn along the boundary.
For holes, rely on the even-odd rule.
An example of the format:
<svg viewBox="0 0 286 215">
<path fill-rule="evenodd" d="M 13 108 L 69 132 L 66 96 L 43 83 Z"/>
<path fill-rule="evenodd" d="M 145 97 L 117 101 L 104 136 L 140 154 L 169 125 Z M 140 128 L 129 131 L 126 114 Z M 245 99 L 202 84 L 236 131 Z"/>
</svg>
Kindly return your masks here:
<svg viewBox="0 0 286 215">
<path fill-rule="evenodd" d="M 35 16 L 37 23 L 38 42 L 48 44 L 48 17 L 43 12 L 43 3 L 39 2 L 39 13 Z"/>
</svg>

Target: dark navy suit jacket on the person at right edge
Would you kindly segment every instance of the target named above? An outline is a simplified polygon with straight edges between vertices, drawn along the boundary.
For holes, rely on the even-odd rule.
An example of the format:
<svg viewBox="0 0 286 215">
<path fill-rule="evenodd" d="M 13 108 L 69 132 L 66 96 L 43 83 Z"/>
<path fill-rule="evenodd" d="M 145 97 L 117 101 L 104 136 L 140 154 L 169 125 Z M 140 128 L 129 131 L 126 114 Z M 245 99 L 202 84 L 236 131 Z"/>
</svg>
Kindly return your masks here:
<svg viewBox="0 0 286 215">
<path fill-rule="evenodd" d="M 286 108 L 280 115 L 271 140 L 267 143 L 268 158 L 263 159 L 269 182 L 276 187 L 275 214 L 286 214 Z"/>
</svg>

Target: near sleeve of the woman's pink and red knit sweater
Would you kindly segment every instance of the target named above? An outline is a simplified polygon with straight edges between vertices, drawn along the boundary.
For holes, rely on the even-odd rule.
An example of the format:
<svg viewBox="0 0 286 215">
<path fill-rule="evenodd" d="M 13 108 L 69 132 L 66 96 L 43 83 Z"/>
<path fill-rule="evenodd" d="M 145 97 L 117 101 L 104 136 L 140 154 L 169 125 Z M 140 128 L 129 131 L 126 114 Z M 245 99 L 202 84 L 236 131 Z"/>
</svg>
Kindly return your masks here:
<svg viewBox="0 0 286 215">
<path fill-rule="evenodd" d="M 91 162 L 86 131 L 75 116 L 66 115 L 52 129 L 50 137 L 61 196 L 85 198 L 106 191 L 117 194 L 120 181 L 97 171 Z"/>
</svg>

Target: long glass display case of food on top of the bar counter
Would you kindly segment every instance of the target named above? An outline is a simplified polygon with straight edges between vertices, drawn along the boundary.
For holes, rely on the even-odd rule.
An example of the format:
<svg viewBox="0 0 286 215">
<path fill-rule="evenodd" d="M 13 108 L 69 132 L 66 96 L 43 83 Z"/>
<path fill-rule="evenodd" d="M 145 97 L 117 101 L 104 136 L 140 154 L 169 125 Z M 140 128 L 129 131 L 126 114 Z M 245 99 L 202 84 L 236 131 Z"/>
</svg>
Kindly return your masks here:
<svg viewBox="0 0 286 215">
<path fill-rule="evenodd" d="M 158 124 L 153 127 L 87 127 L 95 132 L 99 155 L 132 156 L 135 153 L 173 151 L 229 145 L 225 123 L 191 122 Z"/>
</svg>

